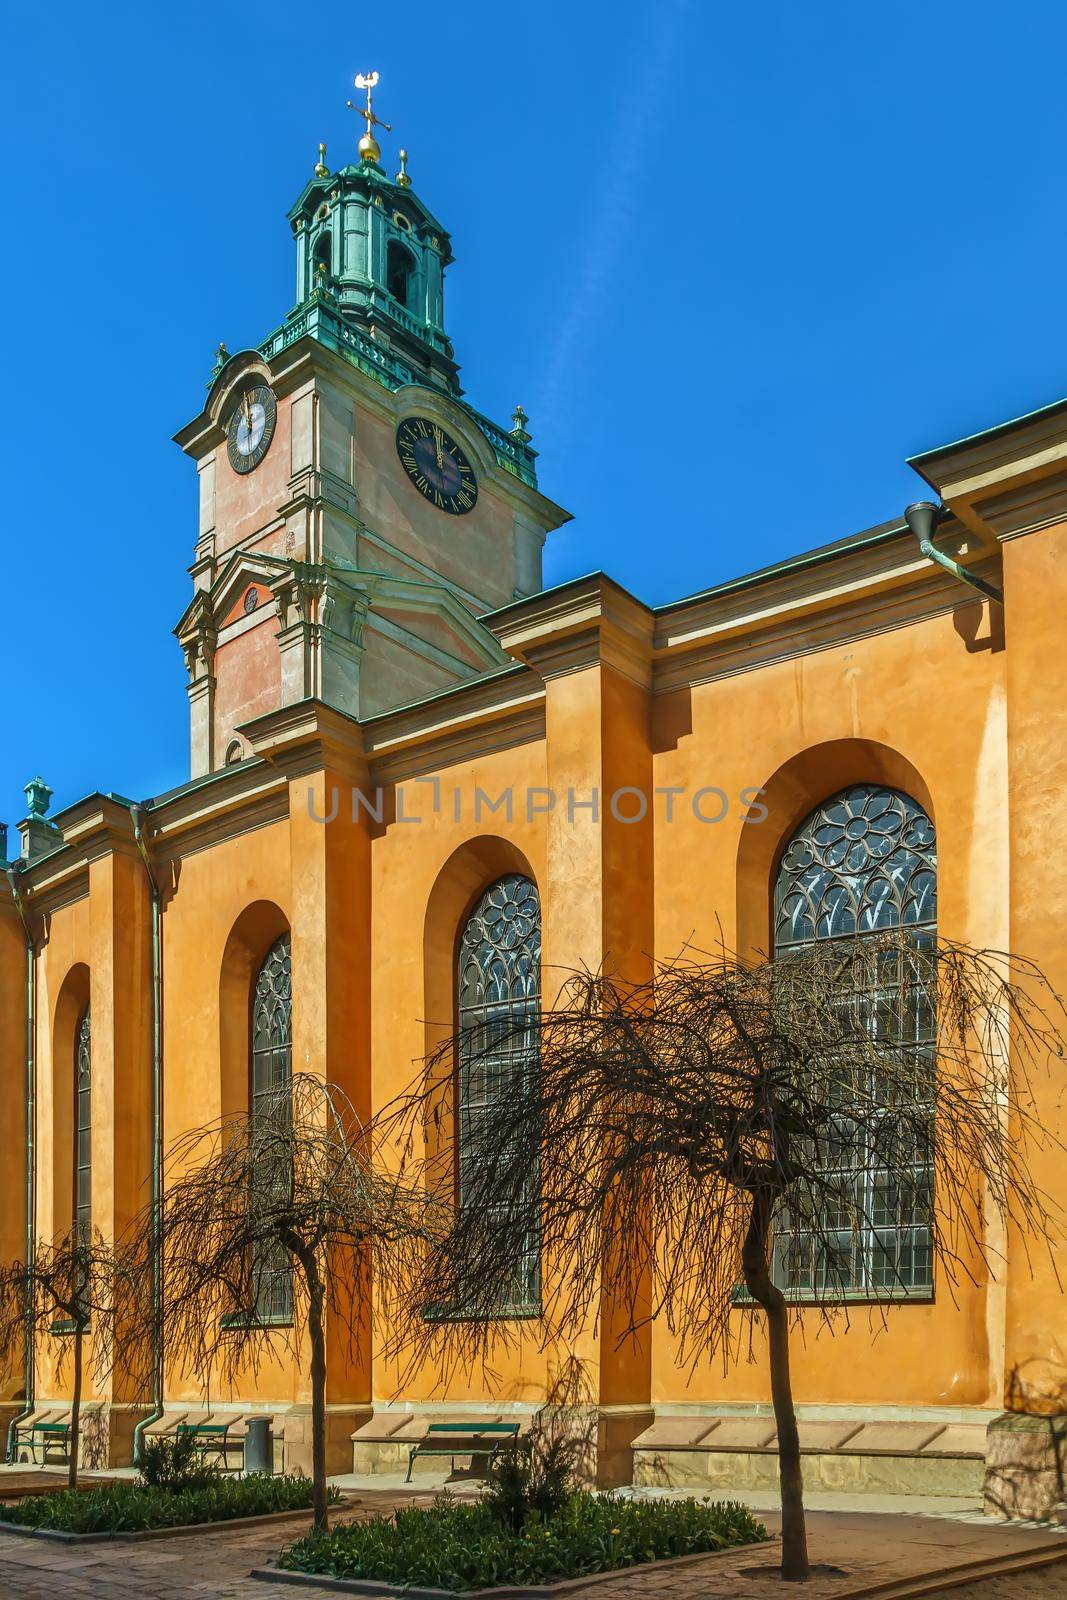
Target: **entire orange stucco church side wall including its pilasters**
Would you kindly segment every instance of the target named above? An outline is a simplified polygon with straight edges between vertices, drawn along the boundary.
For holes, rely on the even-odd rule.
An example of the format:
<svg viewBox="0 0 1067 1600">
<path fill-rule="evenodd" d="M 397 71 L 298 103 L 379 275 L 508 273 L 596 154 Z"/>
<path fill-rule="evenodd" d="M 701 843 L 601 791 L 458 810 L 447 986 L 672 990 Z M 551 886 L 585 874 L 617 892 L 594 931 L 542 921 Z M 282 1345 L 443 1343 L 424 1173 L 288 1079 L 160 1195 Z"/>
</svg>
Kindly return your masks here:
<svg viewBox="0 0 1067 1600">
<path fill-rule="evenodd" d="M 384 450 L 368 443 L 368 432 L 362 448 Z M 640 976 L 653 957 L 670 957 L 688 941 L 710 947 L 721 939 L 755 954 L 769 947 L 773 877 L 785 838 L 819 800 L 857 781 L 905 789 L 929 808 L 945 936 L 1011 946 L 1053 978 L 1067 978 L 1067 878 L 1049 870 L 1049 854 L 1059 858 L 1049 795 L 1062 792 L 1067 747 L 1062 685 L 1048 670 L 1061 626 L 1062 541 L 1067 533 L 1053 531 L 1008 546 L 1006 642 L 990 608 L 963 595 L 953 611 L 829 648 L 808 648 L 798 626 L 784 659 L 718 677 L 694 674 L 664 693 L 605 653 L 565 670 L 549 666 L 542 726 L 531 722 L 507 736 L 486 723 L 446 755 L 430 746 L 410 754 L 408 766 L 386 784 L 381 822 L 366 813 L 352 818 L 352 784 L 370 782 L 358 758 L 326 754 L 290 773 L 278 763 L 269 818 L 251 798 L 243 818 L 235 800 L 189 845 L 166 846 L 168 1142 L 240 1101 L 250 984 L 282 928 L 293 936 L 294 1069 L 341 1083 L 368 1115 L 411 1080 L 451 1029 L 458 928 L 501 872 L 518 867 L 537 883 L 547 998 L 558 968 L 577 963 L 608 962 Z M 646 814 L 611 814 L 608 795 L 619 789 L 651 797 Z M 477 790 L 510 790 L 512 814 L 475 818 Z M 598 816 L 587 803 L 592 790 L 600 794 Z M 723 792 L 725 806 L 713 790 Z M 577 802 L 569 814 L 568 794 Z M 537 798 L 531 803 L 530 795 Z M 753 797 L 765 821 L 747 819 Z M 720 821 L 707 819 L 720 810 Z M 323 816 L 333 819 L 323 824 Z M 75 968 L 90 974 L 101 1224 L 130 1213 L 147 1174 L 149 907 L 139 872 L 128 853 L 93 861 L 85 893 L 51 912 L 38 962 L 42 1130 L 58 1117 L 51 1085 L 61 1080 L 53 1051 L 64 982 Z M 18 1011 L 22 946 L 11 928 L 10 917 L 0 918 L 0 982 L 10 995 L 0 1011 L 0 1056 L 14 1107 L 21 1035 L 10 1018 Z M 1057 1112 L 1049 1107 L 1049 1115 Z M 59 1222 L 54 1160 L 45 1136 L 45 1232 Z M 1048 1181 L 1062 1190 L 1062 1173 L 1049 1171 Z M 16 1206 L 18 1168 L 0 1182 Z M 1061 1354 L 1064 1302 L 1045 1269 L 1030 1277 L 1014 1254 L 1006 1282 L 990 1282 L 981 1262 L 974 1267 L 976 1282 L 958 1285 L 955 1298 L 939 1280 L 928 1304 L 893 1306 L 885 1315 L 857 1307 L 848 1325 L 838 1317 L 833 1338 L 817 1312 L 805 1312 L 797 1398 L 998 1406 L 1014 1362 L 1035 1349 L 1049 1358 Z M 659 1326 L 638 1347 L 616 1349 L 611 1314 L 606 1291 L 600 1331 L 590 1328 L 574 1352 L 601 1403 L 768 1398 L 758 1328 L 757 1358 L 745 1358 L 744 1310 L 734 1314 L 734 1357 L 726 1365 L 709 1358 L 693 1371 Z M 542 1350 L 533 1328 L 520 1331 L 501 1350 L 494 1379 L 458 1374 L 448 1398 L 537 1400 L 566 1355 Z M 304 1402 L 302 1371 L 280 1350 L 277 1365 L 248 1378 L 242 1398 Z M 438 1373 L 406 1373 L 402 1382 L 370 1336 L 350 1355 L 334 1350 L 330 1392 L 334 1405 L 398 1392 L 408 1400 L 443 1397 Z M 168 1394 L 194 1400 L 198 1387 L 173 1370 Z"/>
</svg>

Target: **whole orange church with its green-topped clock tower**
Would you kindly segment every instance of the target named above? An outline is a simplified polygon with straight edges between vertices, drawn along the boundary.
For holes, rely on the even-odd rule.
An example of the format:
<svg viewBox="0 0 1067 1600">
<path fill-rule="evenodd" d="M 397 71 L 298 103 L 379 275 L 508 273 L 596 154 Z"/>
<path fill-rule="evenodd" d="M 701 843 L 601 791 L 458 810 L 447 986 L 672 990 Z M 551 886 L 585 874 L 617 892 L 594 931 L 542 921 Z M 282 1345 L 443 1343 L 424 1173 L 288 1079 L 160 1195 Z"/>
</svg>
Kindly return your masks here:
<svg viewBox="0 0 1067 1600">
<path fill-rule="evenodd" d="M 0 877 L 6 1259 L 74 1224 L 117 1237 L 176 1139 L 294 1070 L 371 1117 L 477 1018 L 490 968 L 547 1005 L 553 973 L 781 952 L 846 904 L 1067 987 L 1067 402 L 913 458 L 944 512 L 661 606 L 605 573 L 544 589 L 568 512 L 522 408 L 493 421 L 461 389 L 453 242 L 403 152 L 389 176 L 360 86 L 357 160 L 320 149 L 288 214 L 293 309 L 219 347 L 176 435 L 200 486 L 189 781 L 56 814 L 35 781 Z M 1025 1246 L 949 1293 L 889 1214 L 893 1282 L 856 1238 L 833 1338 L 795 1264 L 811 1488 L 981 1491 L 1013 1374 L 1064 1360 L 1062 1291 Z M 285 1293 L 264 1314 L 283 1328 Z M 61 1338 L 3 1374 L 5 1429 L 62 1408 Z M 593 1333 L 577 1355 L 600 1482 L 773 1485 L 763 1358 L 691 1371 L 662 1326 L 638 1357 Z M 211 1410 L 269 1411 L 306 1466 L 306 1371 L 280 1344 Z M 520 1328 L 493 1379 L 402 1387 L 368 1334 L 330 1365 L 330 1470 L 403 1470 L 427 1418 L 530 1418 L 557 1379 Z M 205 1405 L 166 1360 L 150 1400 L 122 1370 L 93 1400 L 112 1464 Z"/>
</svg>

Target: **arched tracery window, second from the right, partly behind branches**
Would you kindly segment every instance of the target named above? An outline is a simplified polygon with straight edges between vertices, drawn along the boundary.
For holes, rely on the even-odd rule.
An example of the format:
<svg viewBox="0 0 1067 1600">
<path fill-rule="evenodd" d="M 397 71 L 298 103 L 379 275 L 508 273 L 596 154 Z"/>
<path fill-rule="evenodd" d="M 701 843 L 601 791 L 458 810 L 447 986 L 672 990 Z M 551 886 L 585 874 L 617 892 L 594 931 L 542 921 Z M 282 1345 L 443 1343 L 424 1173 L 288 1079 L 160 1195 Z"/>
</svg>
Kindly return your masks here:
<svg viewBox="0 0 1067 1600">
<path fill-rule="evenodd" d="M 520 872 L 498 878 L 478 898 L 461 938 L 456 973 L 459 1013 L 458 1173 L 462 1206 L 469 1174 L 485 1152 L 486 1115 L 534 1069 L 541 1011 L 541 902 Z M 528 1027 L 528 1032 L 526 1032 Z M 499 1040 L 499 1045 L 494 1045 Z M 536 1184 L 530 1173 L 526 1182 Z M 528 1202 L 530 1192 L 523 1194 Z M 507 1210 L 507 1200 L 501 1200 Z M 541 1251 L 530 1234 L 515 1261 L 515 1290 L 501 1315 L 541 1307 Z"/>
</svg>

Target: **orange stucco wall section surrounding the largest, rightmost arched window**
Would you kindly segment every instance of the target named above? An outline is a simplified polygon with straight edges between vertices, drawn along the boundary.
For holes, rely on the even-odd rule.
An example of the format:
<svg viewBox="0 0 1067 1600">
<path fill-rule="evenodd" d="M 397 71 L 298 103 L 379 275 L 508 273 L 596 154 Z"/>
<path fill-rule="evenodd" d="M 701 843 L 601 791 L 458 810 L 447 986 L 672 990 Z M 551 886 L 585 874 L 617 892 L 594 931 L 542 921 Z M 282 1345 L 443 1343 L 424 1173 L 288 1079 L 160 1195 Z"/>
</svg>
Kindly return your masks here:
<svg viewBox="0 0 1067 1600">
<path fill-rule="evenodd" d="M 939 930 L 1006 947 L 1005 654 L 968 650 L 958 614 L 705 683 L 677 699 L 662 712 L 670 731 L 656 755 L 656 782 L 681 786 L 686 797 L 715 786 L 729 808 L 721 822 L 699 822 L 680 797 L 675 822 L 659 819 L 659 955 L 686 939 L 702 949 L 721 939 L 752 954 L 769 950 L 777 851 L 819 800 L 857 781 L 901 787 L 929 808 L 937 829 Z M 686 731 L 678 736 L 678 728 Z M 757 789 L 769 814 L 747 822 L 739 797 Z M 723 806 L 709 794 L 701 808 L 718 816 Z M 830 1338 L 817 1312 L 805 1314 L 797 1400 L 840 1403 L 862 1390 L 880 1403 L 998 1405 L 1003 1349 L 1000 1336 L 990 1336 L 987 1298 L 1003 1291 L 984 1283 L 977 1262 L 976 1270 L 981 1286 L 960 1285 L 957 1302 L 941 1280 L 933 1304 L 889 1307 L 885 1326 L 881 1307 L 857 1307 L 848 1326 L 837 1317 Z M 721 1360 L 701 1365 L 689 1398 L 768 1397 L 758 1326 L 749 1360 L 749 1317 L 737 1310 L 734 1322 L 742 1358 L 728 1373 Z M 657 1333 L 654 1400 L 678 1397 L 673 1355 L 673 1341 Z"/>
</svg>

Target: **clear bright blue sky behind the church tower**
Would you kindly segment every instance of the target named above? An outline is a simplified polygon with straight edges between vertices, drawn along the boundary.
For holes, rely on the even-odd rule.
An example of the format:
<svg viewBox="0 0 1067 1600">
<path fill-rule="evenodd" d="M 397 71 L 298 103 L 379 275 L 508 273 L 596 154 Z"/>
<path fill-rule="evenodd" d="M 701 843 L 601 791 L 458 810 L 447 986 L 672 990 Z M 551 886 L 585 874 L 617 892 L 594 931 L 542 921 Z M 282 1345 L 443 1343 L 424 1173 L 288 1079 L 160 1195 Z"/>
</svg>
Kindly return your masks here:
<svg viewBox="0 0 1067 1600">
<path fill-rule="evenodd" d="M 5 53 L 11 822 L 37 771 L 56 805 L 187 776 L 171 434 L 219 339 L 290 309 L 285 213 L 318 139 L 352 157 L 355 70 L 453 234 L 467 395 L 523 402 L 574 512 L 545 582 L 688 594 L 1067 392 L 1062 5 L 58 0 Z"/>
</svg>

